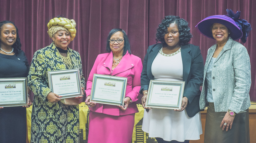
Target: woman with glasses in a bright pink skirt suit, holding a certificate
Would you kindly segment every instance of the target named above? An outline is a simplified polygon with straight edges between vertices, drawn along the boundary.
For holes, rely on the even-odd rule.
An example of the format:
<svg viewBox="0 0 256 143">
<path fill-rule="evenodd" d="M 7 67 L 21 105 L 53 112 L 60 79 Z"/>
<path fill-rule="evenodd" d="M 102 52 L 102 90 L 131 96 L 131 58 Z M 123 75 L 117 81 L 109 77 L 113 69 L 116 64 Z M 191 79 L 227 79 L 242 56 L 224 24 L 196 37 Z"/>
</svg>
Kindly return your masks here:
<svg viewBox="0 0 256 143">
<path fill-rule="evenodd" d="M 88 143 L 130 143 L 135 101 L 140 90 L 141 59 L 130 52 L 128 37 L 122 29 L 112 29 L 107 38 L 107 52 L 95 60 L 86 86 L 86 104 L 90 109 Z M 90 102 L 93 74 L 127 77 L 124 106 Z"/>
</svg>

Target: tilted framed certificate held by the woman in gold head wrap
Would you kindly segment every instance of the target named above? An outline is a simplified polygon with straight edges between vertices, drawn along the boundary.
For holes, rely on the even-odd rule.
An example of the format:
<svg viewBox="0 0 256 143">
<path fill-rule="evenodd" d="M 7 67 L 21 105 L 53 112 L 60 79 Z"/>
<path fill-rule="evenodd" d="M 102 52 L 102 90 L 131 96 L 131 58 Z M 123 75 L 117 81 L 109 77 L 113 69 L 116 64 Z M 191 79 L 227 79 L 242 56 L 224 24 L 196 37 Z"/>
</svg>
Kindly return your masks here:
<svg viewBox="0 0 256 143">
<path fill-rule="evenodd" d="M 63 98 L 82 96 L 79 69 L 48 71 L 50 90 Z"/>
</svg>

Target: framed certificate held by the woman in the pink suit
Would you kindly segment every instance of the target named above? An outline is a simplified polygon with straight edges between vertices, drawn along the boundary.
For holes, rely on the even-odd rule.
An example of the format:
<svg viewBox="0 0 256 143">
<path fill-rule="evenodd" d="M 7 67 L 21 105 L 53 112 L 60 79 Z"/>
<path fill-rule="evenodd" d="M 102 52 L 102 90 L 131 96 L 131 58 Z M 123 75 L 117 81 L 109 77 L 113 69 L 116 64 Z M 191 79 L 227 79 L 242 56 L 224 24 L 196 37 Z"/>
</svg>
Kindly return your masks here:
<svg viewBox="0 0 256 143">
<path fill-rule="evenodd" d="M 90 101 L 110 105 L 124 105 L 126 77 L 94 74 Z"/>
</svg>

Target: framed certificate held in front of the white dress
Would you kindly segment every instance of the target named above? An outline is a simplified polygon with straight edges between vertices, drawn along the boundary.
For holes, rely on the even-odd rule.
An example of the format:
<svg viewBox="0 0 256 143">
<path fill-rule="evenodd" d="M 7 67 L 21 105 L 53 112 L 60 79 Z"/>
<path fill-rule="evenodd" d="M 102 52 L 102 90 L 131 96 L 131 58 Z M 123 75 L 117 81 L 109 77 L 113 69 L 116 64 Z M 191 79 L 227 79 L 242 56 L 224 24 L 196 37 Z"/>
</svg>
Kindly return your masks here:
<svg viewBox="0 0 256 143">
<path fill-rule="evenodd" d="M 150 80 L 145 107 L 181 109 L 185 82 Z"/>
</svg>

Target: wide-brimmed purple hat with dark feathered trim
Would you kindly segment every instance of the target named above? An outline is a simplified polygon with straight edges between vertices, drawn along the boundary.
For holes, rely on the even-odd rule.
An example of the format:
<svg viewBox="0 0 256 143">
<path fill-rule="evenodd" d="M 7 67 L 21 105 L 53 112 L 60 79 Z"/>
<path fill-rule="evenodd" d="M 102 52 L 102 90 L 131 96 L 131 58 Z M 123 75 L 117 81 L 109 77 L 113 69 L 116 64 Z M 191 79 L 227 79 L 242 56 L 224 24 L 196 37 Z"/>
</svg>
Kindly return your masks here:
<svg viewBox="0 0 256 143">
<path fill-rule="evenodd" d="M 195 27 L 204 36 L 214 39 L 212 36 L 211 26 L 214 23 L 220 23 L 225 25 L 229 31 L 229 36 L 233 40 L 241 39 L 243 43 L 251 31 L 251 24 L 244 19 L 239 19 L 241 11 L 237 11 L 236 14 L 230 9 L 226 9 L 227 15 L 213 15 L 208 16 L 200 21 Z"/>
</svg>

